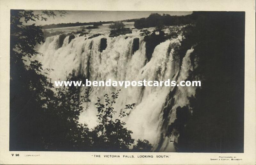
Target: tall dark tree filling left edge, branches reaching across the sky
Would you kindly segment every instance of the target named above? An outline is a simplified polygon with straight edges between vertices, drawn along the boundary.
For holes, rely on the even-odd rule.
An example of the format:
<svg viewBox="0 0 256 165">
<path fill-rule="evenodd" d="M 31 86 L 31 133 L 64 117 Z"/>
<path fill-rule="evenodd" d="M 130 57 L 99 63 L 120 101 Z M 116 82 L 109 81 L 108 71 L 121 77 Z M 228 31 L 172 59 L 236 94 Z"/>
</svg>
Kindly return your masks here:
<svg viewBox="0 0 256 165">
<path fill-rule="evenodd" d="M 65 11 L 59 11 L 60 15 Z M 10 25 L 10 150 L 43 149 L 38 126 L 43 107 L 54 95 L 52 83 L 42 74 L 42 64 L 31 60 L 36 44 L 44 42 L 43 31 L 35 24 L 44 16 L 55 17 L 53 11 L 11 10 Z M 22 21 L 24 20 L 24 21 Z M 27 61 L 27 62 L 26 62 Z M 26 64 L 24 63 L 26 62 Z"/>
</svg>

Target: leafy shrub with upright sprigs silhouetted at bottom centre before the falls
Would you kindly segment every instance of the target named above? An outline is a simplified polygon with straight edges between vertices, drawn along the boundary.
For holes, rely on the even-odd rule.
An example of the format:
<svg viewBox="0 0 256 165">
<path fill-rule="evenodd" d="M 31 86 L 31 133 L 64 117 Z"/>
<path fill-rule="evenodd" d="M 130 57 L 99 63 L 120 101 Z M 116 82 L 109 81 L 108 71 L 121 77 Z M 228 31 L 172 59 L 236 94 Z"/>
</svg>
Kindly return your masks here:
<svg viewBox="0 0 256 165">
<path fill-rule="evenodd" d="M 124 127 L 125 123 L 121 118 L 129 115 L 122 111 L 118 118 L 113 120 L 113 115 L 116 113 L 113 108 L 113 104 L 116 103 L 118 98 L 119 91 L 111 94 L 111 98 L 108 97 L 108 94 L 104 95 L 105 104 L 100 103 L 100 98 L 98 98 L 97 105 L 98 110 L 98 126 L 95 127 L 94 132 L 96 133 L 96 148 L 100 151 L 111 151 L 120 152 L 120 151 L 129 151 L 129 146 L 133 144 L 134 139 L 132 139 L 132 131 L 127 130 Z M 132 109 L 135 104 L 126 105 L 125 109 Z"/>
</svg>

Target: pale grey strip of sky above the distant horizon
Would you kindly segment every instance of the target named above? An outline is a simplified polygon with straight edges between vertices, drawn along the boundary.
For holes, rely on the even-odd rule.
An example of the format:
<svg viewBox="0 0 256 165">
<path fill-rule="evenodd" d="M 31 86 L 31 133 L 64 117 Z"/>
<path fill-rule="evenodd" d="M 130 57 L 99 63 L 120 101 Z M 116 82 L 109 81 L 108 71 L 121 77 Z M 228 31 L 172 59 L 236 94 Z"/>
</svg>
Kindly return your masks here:
<svg viewBox="0 0 256 165">
<path fill-rule="evenodd" d="M 56 14 L 58 11 L 54 11 Z M 67 11 L 65 17 L 57 15 L 54 19 L 48 18 L 47 21 L 36 21 L 36 25 L 49 25 L 60 23 L 76 22 L 98 22 L 98 21 L 118 21 L 133 18 L 146 18 L 151 13 L 170 14 L 170 15 L 188 15 L 192 11 Z M 41 14 L 42 11 L 36 10 L 35 14 Z M 35 22 L 30 22 L 35 23 Z"/>
</svg>

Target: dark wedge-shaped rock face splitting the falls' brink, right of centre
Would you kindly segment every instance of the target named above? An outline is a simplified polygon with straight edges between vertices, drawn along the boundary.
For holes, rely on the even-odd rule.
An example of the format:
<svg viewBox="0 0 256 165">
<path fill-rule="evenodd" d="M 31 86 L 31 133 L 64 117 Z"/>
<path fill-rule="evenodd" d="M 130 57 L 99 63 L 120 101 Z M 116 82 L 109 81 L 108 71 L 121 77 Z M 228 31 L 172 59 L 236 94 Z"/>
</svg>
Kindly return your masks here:
<svg viewBox="0 0 256 165">
<path fill-rule="evenodd" d="M 145 36 L 144 40 L 146 41 L 146 56 L 148 61 L 150 61 L 154 49 L 161 42 L 164 42 L 166 38 L 164 37 L 164 32 L 161 30 L 154 31 L 150 36 Z"/>
</svg>

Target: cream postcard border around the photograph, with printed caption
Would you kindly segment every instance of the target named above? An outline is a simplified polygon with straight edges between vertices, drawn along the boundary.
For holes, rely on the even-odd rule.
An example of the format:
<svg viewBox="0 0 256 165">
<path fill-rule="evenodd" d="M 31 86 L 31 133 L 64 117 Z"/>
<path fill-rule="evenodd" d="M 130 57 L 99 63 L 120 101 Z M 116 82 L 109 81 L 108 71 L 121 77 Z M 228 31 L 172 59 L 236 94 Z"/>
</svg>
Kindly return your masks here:
<svg viewBox="0 0 256 165">
<path fill-rule="evenodd" d="M 93 158 L 92 152 L 9 151 L 10 9 L 105 11 L 245 11 L 244 153 L 115 153 L 170 155 L 171 158 Z M 254 0 L 1 0 L 0 1 L 0 164 L 256 164 L 255 163 L 255 2 Z M 11 154 L 20 154 L 13 157 Z M 26 154 L 39 154 L 25 157 Z M 107 153 L 110 154 L 110 153 Z M 112 153 L 113 154 L 113 153 Z M 242 161 L 210 161 L 236 156 Z"/>
</svg>

